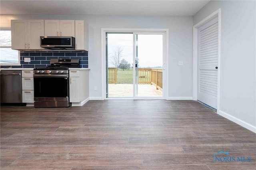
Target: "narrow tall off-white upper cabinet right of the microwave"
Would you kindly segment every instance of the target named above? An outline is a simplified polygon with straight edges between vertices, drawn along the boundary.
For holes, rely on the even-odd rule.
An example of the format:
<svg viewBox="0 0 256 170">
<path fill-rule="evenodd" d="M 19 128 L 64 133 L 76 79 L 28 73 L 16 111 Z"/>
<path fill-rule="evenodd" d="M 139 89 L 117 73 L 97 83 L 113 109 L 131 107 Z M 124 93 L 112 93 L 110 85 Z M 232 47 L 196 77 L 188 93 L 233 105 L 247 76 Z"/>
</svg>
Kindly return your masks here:
<svg viewBox="0 0 256 170">
<path fill-rule="evenodd" d="M 75 21 L 76 50 L 88 51 L 88 24 L 83 20 Z"/>
</svg>

